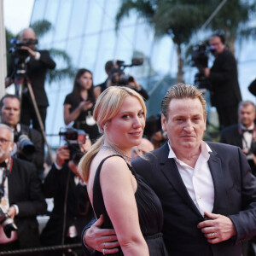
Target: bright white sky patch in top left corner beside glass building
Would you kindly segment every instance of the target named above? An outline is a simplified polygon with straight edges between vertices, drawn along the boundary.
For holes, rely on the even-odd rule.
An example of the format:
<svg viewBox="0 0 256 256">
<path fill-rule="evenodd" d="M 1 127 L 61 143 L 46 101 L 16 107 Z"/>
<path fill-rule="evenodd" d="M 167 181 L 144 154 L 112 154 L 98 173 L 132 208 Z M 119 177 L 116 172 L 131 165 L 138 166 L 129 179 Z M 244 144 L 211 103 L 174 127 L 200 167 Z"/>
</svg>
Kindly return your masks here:
<svg viewBox="0 0 256 256">
<path fill-rule="evenodd" d="M 4 26 L 13 33 L 29 26 L 33 3 L 34 0 L 3 0 Z"/>
</svg>

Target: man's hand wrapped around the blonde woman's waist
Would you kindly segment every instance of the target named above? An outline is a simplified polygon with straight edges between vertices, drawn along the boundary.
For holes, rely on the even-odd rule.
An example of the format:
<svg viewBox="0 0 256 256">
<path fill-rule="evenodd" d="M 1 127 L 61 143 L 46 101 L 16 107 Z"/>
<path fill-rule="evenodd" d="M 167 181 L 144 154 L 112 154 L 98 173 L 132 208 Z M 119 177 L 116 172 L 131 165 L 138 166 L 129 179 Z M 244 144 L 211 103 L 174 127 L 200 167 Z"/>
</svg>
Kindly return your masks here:
<svg viewBox="0 0 256 256">
<path fill-rule="evenodd" d="M 84 232 L 84 244 L 98 252 L 104 254 L 117 253 L 119 249 L 119 242 L 114 230 L 101 229 L 103 224 L 103 216 L 93 224 L 90 229 Z"/>
</svg>

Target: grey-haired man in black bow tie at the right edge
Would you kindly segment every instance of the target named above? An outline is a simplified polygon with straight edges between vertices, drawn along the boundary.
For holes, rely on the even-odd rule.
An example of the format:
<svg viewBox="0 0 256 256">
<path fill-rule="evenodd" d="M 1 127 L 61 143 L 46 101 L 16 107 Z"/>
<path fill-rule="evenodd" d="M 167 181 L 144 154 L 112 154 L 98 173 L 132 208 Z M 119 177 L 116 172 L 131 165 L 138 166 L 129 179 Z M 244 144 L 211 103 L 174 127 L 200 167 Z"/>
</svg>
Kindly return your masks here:
<svg viewBox="0 0 256 256">
<path fill-rule="evenodd" d="M 241 148 L 246 155 L 253 175 L 256 175 L 256 126 L 255 106 L 253 102 L 244 101 L 239 103 L 239 123 L 226 127 L 220 134 L 220 143 L 226 143 Z"/>
</svg>

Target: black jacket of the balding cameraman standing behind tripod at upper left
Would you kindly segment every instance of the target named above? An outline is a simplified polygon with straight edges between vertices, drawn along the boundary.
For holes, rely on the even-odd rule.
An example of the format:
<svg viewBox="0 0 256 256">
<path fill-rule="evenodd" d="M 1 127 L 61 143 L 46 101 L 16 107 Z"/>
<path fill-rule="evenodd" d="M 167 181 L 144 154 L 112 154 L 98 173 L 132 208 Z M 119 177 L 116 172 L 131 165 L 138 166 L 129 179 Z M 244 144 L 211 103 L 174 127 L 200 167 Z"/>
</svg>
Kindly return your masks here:
<svg viewBox="0 0 256 256">
<path fill-rule="evenodd" d="M 36 61 L 34 58 L 30 58 L 27 62 L 26 67 L 26 75 L 32 84 L 32 90 L 34 92 L 36 102 L 38 107 L 47 107 L 49 106 L 49 102 L 46 96 L 46 92 L 44 90 L 44 81 L 46 77 L 46 73 L 48 69 L 55 68 L 55 61 L 51 59 L 49 56 L 48 50 L 38 50 L 40 53 L 40 59 Z M 14 58 L 11 59 L 9 65 L 9 73 L 8 77 L 12 77 L 14 79 L 15 75 L 15 60 Z M 31 97 L 29 96 L 29 92 L 23 93 L 23 101 L 31 102 Z M 27 102 L 26 102 L 27 103 Z M 32 104 L 32 102 L 31 102 Z"/>
</svg>

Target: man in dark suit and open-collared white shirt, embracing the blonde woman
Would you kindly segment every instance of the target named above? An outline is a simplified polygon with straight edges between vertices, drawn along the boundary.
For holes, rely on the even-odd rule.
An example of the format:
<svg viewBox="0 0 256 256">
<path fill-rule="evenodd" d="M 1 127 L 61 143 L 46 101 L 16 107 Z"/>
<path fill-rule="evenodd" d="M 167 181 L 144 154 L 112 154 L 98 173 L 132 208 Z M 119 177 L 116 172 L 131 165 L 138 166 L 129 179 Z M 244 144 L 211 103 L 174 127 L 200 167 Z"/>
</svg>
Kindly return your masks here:
<svg viewBox="0 0 256 256">
<path fill-rule="evenodd" d="M 195 86 L 173 85 L 161 112 L 168 141 L 132 166 L 160 198 L 168 253 L 241 256 L 241 241 L 256 234 L 256 179 L 245 155 L 238 147 L 203 142 L 206 102 Z M 102 222 L 84 230 L 83 240 L 114 253 L 114 230 L 99 229 Z"/>
</svg>

